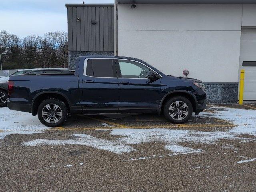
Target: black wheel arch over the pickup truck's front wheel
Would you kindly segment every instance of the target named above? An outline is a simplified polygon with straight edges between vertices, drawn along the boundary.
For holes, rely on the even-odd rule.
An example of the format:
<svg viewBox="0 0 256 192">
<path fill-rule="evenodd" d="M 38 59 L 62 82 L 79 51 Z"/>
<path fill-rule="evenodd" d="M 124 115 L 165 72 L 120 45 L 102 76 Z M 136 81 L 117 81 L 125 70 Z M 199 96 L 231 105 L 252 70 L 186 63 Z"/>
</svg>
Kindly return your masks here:
<svg viewBox="0 0 256 192">
<path fill-rule="evenodd" d="M 188 100 L 191 102 L 191 104 L 193 106 L 193 112 L 196 111 L 196 108 L 198 106 L 196 96 L 189 91 L 175 90 L 175 91 L 170 91 L 170 92 L 166 93 L 164 95 L 164 97 L 162 98 L 162 100 L 158 106 L 158 109 L 157 109 L 157 112 L 159 115 L 162 114 L 162 110 L 163 110 L 162 106 L 164 106 L 165 102 L 167 102 L 170 98 L 172 98 L 174 96 L 184 96 L 184 97 L 188 98 Z"/>
</svg>

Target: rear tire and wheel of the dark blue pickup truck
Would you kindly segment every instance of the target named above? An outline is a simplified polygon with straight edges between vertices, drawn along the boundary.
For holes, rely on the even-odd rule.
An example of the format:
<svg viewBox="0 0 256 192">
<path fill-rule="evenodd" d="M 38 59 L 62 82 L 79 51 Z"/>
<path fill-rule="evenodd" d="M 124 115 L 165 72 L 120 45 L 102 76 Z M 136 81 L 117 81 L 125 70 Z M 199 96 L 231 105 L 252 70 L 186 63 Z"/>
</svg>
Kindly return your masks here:
<svg viewBox="0 0 256 192">
<path fill-rule="evenodd" d="M 55 106 L 58 106 L 56 110 L 54 110 Z M 49 107 L 50 107 L 50 110 L 48 110 Z M 61 114 L 61 116 L 58 114 Z M 63 101 L 50 98 L 50 99 L 44 100 L 38 106 L 37 116 L 40 122 L 45 126 L 57 127 L 62 125 L 67 120 L 68 109 L 66 107 L 66 104 Z"/>
</svg>

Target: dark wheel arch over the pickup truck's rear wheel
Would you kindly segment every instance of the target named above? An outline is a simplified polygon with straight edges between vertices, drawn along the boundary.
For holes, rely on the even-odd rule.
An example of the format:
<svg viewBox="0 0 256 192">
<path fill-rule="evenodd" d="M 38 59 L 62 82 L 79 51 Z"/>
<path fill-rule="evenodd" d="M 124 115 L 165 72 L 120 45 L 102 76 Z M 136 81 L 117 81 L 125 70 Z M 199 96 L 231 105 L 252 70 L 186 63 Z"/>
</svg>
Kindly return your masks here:
<svg viewBox="0 0 256 192">
<path fill-rule="evenodd" d="M 65 94 L 58 92 L 58 91 L 43 91 L 43 92 L 36 94 L 36 96 L 32 100 L 31 113 L 33 116 L 35 116 L 37 114 L 37 109 L 38 109 L 38 106 L 40 105 L 40 103 L 43 100 L 46 100 L 49 98 L 55 98 L 55 99 L 63 101 L 68 108 L 68 112 L 70 112 L 70 102 Z"/>
</svg>

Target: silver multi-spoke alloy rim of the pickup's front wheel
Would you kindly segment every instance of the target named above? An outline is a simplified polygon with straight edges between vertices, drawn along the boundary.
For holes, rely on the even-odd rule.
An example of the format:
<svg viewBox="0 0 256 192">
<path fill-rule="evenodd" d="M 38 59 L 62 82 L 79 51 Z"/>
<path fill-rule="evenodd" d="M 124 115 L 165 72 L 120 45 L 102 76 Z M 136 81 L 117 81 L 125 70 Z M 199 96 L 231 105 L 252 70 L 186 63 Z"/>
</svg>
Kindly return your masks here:
<svg viewBox="0 0 256 192">
<path fill-rule="evenodd" d="M 175 101 L 170 105 L 169 114 L 174 120 L 183 120 L 188 116 L 188 105 L 183 101 Z"/>
</svg>

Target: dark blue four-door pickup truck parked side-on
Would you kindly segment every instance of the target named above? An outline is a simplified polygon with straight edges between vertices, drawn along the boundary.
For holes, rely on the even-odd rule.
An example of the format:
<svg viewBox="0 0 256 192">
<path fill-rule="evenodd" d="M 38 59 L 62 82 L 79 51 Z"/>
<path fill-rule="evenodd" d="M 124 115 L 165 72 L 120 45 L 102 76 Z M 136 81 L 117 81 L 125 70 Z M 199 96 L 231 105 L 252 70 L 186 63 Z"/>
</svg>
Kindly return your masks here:
<svg viewBox="0 0 256 192">
<path fill-rule="evenodd" d="M 120 56 L 82 56 L 74 73 L 10 76 L 7 105 L 38 115 L 42 124 L 63 124 L 68 114 L 164 114 L 184 123 L 206 107 L 200 80 L 165 75 L 146 62 Z"/>
</svg>

